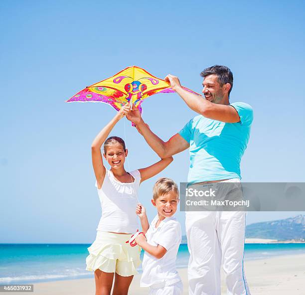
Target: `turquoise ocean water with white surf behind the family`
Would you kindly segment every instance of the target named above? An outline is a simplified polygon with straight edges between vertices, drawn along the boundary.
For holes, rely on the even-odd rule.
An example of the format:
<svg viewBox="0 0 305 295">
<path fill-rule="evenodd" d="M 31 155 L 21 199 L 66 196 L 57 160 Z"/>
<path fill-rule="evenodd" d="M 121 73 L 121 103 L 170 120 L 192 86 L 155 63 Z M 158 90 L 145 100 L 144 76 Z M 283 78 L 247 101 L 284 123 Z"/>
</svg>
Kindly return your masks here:
<svg viewBox="0 0 305 295">
<path fill-rule="evenodd" d="M 26 284 L 92 278 L 85 270 L 90 244 L 0 244 L 0 284 Z M 244 260 L 305 254 L 304 244 L 245 244 Z M 143 253 L 141 254 L 143 258 Z M 188 250 L 181 244 L 177 268 L 187 267 Z M 141 268 L 139 269 L 141 272 Z"/>
</svg>

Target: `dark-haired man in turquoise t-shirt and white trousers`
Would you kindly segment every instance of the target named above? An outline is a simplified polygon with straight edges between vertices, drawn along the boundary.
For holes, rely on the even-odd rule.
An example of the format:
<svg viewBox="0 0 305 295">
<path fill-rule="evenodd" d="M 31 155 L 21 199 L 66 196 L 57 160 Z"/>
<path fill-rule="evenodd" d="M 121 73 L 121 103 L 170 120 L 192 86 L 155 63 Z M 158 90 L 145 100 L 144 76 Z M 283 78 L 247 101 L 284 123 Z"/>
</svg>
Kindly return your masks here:
<svg viewBox="0 0 305 295">
<path fill-rule="evenodd" d="M 151 148 L 162 158 L 189 148 L 188 182 L 236 182 L 240 160 L 247 147 L 253 121 L 252 108 L 229 102 L 233 74 L 226 66 L 212 66 L 200 74 L 202 96 L 184 90 L 177 77 L 165 82 L 187 106 L 199 115 L 163 142 L 135 110 L 128 115 Z M 190 295 L 220 295 L 220 266 L 226 274 L 228 295 L 250 295 L 243 267 L 245 212 L 186 212 L 187 244 L 190 252 Z"/>
</svg>

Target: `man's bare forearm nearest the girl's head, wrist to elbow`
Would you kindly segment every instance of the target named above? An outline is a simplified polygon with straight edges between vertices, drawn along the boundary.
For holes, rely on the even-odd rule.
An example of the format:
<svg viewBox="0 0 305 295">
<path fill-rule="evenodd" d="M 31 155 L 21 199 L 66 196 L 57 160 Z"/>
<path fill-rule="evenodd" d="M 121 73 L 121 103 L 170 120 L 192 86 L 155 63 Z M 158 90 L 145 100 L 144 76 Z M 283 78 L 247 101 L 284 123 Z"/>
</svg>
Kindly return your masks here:
<svg viewBox="0 0 305 295">
<path fill-rule="evenodd" d="M 137 129 L 143 135 L 148 145 L 160 158 L 166 157 L 165 143 L 151 131 L 143 120 L 141 120 L 141 123 L 137 125 Z"/>
</svg>

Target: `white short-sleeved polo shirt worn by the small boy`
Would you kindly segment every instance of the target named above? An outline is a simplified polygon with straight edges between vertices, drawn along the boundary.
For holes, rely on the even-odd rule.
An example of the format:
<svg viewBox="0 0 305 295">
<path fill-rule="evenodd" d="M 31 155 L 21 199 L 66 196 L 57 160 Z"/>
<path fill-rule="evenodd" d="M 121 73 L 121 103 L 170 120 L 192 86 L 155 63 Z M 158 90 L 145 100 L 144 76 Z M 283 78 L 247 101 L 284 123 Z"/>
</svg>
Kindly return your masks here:
<svg viewBox="0 0 305 295">
<path fill-rule="evenodd" d="M 146 233 L 147 242 L 152 246 L 160 245 L 167 251 L 160 259 L 145 252 L 141 287 L 162 288 L 181 281 L 176 270 L 176 258 L 181 243 L 180 223 L 172 216 L 162 220 L 155 228 L 158 219 L 156 215 L 152 220 Z"/>
</svg>

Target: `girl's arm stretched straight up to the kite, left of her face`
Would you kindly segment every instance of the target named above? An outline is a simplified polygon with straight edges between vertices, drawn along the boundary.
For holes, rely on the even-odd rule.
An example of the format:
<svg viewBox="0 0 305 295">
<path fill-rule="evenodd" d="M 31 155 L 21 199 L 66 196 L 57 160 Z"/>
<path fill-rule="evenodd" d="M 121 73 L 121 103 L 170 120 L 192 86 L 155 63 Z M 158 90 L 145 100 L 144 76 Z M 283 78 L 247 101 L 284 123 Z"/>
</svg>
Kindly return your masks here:
<svg viewBox="0 0 305 295">
<path fill-rule="evenodd" d="M 110 132 L 114 126 L 128 114 L 130 111 L 130 106 L 126 104 L 122 109 L 114 116 L 114 118 L 102 129 L 102 131 L 96 136 L 92 145 L 91 145 L 91 154 L 92 154 L 92 165 L 94 169 L 95 178 L 98 184 L 98 189 L 103 185 L 106 168 L 103 164 L 103 157 L 101 153 L 101 148 Z"/>
</svg>

